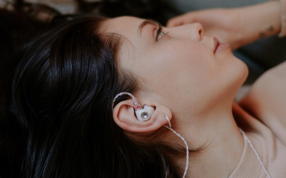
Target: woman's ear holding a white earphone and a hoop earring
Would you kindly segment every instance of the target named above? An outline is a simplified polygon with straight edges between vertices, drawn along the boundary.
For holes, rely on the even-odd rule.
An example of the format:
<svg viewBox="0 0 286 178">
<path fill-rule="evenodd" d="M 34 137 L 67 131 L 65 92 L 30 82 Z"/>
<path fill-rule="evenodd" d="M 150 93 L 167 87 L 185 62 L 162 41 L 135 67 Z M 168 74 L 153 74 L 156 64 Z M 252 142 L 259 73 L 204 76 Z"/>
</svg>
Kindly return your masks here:
<svg viewBox="0 0 286 178">
<path fill-rule="evenodd" d="M 172 119 L 172 112 L 169 108 L 157 103 L 144 103 L 144 105 L 156 107 L 150 120 L 145 122 L 139 121 L 135 116 L 135 110 L 131 99 L 121 101 L 113 109 L 114 122 L 122 129 L 130 132 L 150 132 L 157 130 L 168 123 L 163 114 L 166 114 L 169 119 Z"/>
</svg>

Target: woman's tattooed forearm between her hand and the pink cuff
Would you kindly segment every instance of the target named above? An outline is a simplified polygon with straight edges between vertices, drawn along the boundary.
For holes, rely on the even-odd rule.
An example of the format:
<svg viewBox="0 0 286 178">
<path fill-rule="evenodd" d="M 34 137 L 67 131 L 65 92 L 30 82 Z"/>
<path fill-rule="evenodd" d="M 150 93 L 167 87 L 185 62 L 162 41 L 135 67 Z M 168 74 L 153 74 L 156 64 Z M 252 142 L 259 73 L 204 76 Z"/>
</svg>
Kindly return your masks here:
<svg viewBox="0 0 286 178">
<path fill-rule="evenodd" d="M 258 5 L 236 9 L 240 15 L 238 46 L 259 38 L 278 34 L 281 30 L 280 1 L 268 1 Z"/>
</svg>

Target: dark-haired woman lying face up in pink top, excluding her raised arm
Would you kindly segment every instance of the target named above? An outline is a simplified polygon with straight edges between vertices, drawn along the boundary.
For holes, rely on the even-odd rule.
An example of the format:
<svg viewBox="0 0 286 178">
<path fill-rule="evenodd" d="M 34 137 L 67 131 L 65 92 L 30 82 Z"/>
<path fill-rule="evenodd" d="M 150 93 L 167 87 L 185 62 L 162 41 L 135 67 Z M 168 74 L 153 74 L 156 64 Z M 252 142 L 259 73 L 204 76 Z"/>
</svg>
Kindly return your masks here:
<svg viewBox="0 0 286 178">
<path fill-rule="evenodd" d="M 267 4 L 277 33 L 279 8 Z M 16 176 L 182 177 L 186 146 L 164 127 L 166 118 L 193 152 L 186 177 L 286 175 L 286 83 L 269 81 L 285 76 L 285 64 L 254 84 L 243 109 L 233 99 L 247 66 L 199 23 L 166 28 L 135 17 L 69 17 L 17 59 L 5 115 L 23 134 L 13 157 L 21 163 L 11 163 Z M 272 83 L 262 89 L 265 82 Z M 281 87 L 271 88 L 276 82 Z M 128 95 L 112 108 L 120 92 L 154 107 L 151 118 L 139 121 Z"/>
</svg>

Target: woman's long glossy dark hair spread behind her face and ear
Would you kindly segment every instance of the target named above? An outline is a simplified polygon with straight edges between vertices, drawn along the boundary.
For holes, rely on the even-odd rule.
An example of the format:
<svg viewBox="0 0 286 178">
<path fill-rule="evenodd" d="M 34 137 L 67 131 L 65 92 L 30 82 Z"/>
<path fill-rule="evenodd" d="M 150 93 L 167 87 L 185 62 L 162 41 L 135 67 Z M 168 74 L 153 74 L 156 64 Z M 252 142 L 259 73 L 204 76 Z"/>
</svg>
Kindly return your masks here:
<svg viewBox="0 0 286 178">
<path fill-rule="evenodd" d="M 134 93 L 137 85 L 117 65 L 124 39 L 99 31 L 104 20 L 68 15 L 53 18 L 49 25 L 29 21 L 29 38 L 19 38 L 18 46 L 1 52 L 7 69 L 0 88 L 0 177 L 182 175 L 174 164 L 180 148 L 152 141 L 155 133 L 148 141 L 132 139 L 113 121 L 114 96 Z M 7 42 L 19 34 L 3 29 Z"/>
</svg>

